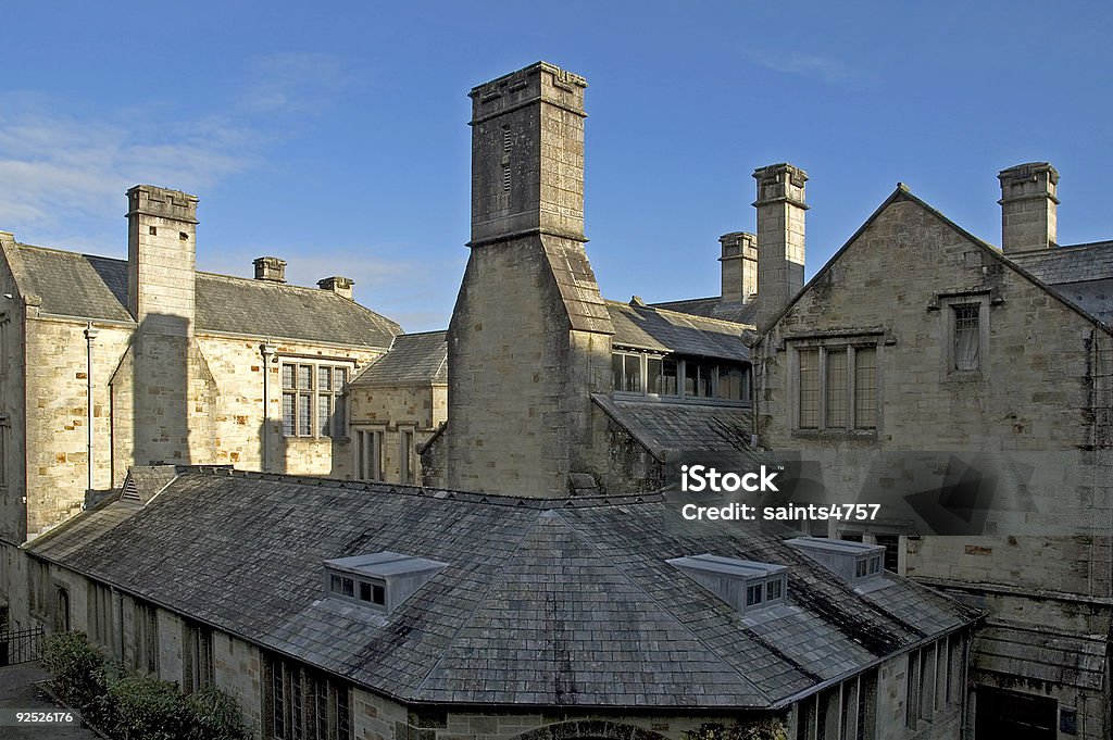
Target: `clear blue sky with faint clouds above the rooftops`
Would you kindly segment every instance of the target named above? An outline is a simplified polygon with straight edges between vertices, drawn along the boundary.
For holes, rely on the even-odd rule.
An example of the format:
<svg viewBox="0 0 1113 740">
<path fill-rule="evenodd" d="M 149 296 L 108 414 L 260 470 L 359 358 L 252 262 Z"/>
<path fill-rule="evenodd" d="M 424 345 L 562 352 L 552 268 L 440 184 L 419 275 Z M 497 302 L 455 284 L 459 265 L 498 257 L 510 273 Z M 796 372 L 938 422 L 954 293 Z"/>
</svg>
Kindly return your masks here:
<svg viewBox="0 0 1113 740">
<path fill-rule="evenodd" d="M 808 276 L 898 180 L 999 241 L 998 170 L 1058 169 L 1062 244 L 1113 238 L 1113 9 L 1076 2 L 14 3 L 0 229 L 126 256 L 124 191 L 200 197 L 198 267 L 355 278 L 446 326 L 467 258 L 470 101 L 539 59 L 588 79 L 603 294 L 717 295 L 764 165 L 808 171 Z"/>
</svg>

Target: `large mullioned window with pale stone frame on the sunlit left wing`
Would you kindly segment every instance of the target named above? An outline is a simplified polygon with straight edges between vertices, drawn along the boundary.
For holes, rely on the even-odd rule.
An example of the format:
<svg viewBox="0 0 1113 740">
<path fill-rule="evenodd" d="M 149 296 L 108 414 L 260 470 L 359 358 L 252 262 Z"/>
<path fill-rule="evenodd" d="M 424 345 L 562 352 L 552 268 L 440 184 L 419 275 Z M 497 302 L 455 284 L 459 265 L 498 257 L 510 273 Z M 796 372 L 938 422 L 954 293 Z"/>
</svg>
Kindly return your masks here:
<svg viewBox="0 0 1113 740">
<path fill-rule="evenodd" d="M 286 379 L 286 368 L 293 367 L 292 383 L 287 385 Z M 299 369 L 303 367 L 309 368 L 309 386 L 302 387 L 301 373 Z M 321 369 L 328 368 L 329 371 L 329 385 L 332 388 L 327 391 L 322 391 L 319 387 L 321 382 Z M 344 382 L 342 387 L 337 388 L 335 381 L 336 371 L 344 372 Z M 301 438 L 301 440 L 336 440 L 339 442 L 347 441 L 348 438 L 348 414 L 347 414 L 347 386 L 355 376 L 355 361 L 338 361 L 335 358 L 328 359 L 317 359 L 309 357 L 299 357 L 297 355 L 287 355 L 279 357 L 278 361 L 278 378 L 282 385 L 279 396 L 280 403 L 280 418 L 282 418 L 282 435 L 285 438 Z M 290 396 L 293 398 L 293 404 L 290 406 L 293 412 L 293 418 L 288 418 L 286 414 L 286 398 Z M 322 397 L 328 398 L 328 424 L 329 428 L 322 433 L 319 425 L 319 403 Z M 304 413 L 302 408 L 302 399 L 306 398 L 309 403 L 308 408 L 308 432 L 304 432 Z M 338 428 L 337 428 L 338 427 Z"/>
</svg>

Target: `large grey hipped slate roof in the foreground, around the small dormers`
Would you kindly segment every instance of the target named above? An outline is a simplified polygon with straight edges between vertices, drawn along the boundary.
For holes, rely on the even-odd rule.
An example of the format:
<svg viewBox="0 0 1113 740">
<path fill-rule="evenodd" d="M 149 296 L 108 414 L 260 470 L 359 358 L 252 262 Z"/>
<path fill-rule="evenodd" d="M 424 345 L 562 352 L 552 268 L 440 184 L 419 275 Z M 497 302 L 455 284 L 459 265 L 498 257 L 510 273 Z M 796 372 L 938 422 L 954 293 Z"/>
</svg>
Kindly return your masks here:
<svg viewBox="0 0 1113 740">
<path fill-rule="evenodd" d="M 87 512 L 28 549 L 406 702 L 780 707 L 975 619 L 895 575 L 859 594 L 778 536 L 663 499 L 178 471 L 146 507 Z M 387 615 L 324 596 L 324 561 L 384 550 L 449 565 Z M 666 562 L 697 553 L 787 565 L 780 616 L 742 618 Z"/>
</svg>

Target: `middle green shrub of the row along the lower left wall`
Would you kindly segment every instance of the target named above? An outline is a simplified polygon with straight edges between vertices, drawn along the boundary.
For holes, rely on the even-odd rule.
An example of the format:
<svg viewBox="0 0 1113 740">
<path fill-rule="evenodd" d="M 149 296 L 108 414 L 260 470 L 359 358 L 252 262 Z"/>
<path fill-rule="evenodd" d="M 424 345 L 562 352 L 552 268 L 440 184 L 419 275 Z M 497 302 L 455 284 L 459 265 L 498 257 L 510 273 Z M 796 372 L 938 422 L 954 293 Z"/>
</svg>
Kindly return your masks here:
<svg viewBox="0 0 1113 740">
<path fill-rule="evenodd" d="M 127 675 L 108 687 L 115 719 L 105 728 L 128 740 L 180 740 L 186 736 L 186 700 L 176 683 L 146 675 Z"/>
</svg>

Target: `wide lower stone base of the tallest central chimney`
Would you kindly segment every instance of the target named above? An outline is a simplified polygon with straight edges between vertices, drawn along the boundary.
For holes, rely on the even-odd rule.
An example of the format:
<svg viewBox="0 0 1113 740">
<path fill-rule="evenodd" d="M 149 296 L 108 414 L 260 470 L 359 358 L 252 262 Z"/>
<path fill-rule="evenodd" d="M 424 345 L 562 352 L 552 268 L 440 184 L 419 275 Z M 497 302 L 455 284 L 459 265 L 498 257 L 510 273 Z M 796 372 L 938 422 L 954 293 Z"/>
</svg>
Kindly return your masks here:
<svg viewBox="0 0 1113 740">
<path fill-rule="evenodd" d="M 451 422 L 436 442 L 447 444 L 451 489 L 563 495 L 585 465 L 590 394 L 610 389 L 610 336 L 572 328 L 553 238 L 472 249 L 450 327 Z"/>
</svg>

